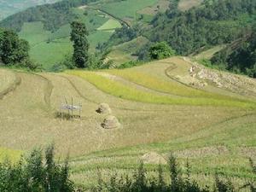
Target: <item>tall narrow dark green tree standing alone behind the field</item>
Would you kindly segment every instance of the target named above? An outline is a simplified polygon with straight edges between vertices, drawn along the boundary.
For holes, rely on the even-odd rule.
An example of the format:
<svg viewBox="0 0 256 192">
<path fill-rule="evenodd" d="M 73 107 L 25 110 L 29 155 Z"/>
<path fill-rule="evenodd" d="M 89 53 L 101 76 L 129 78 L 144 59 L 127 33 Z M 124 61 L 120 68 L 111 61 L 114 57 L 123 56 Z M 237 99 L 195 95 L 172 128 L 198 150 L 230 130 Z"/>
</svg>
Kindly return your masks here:
<svg viewBox="0 0 256 192">
<path fill-rule="evenodd" d="M 71 41 L 73 41 L 73 61 L 75 62 L 76 67 L 88 67 L 89 43 L 87 36 L 89 35 L 89 32 L 87 31 L 84 23 L 80 23 L 78 21 L 73 21 L 71 28 Z"/>
</svg>

